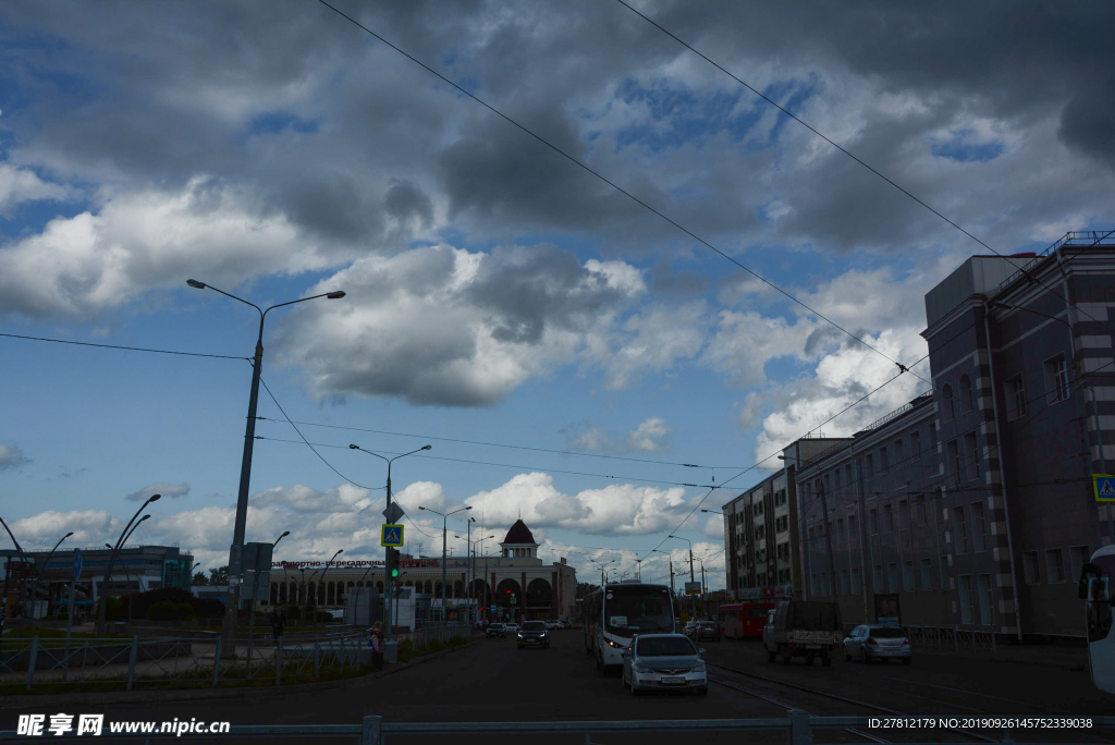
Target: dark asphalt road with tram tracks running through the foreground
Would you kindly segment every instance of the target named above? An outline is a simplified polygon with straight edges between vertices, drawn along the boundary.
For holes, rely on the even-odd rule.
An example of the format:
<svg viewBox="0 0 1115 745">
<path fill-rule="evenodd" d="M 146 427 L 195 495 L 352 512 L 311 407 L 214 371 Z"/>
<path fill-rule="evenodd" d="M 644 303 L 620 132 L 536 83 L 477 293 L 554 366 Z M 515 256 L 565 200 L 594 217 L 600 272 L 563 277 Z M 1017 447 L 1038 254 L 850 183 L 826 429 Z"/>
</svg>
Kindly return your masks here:
<svg viewBox="0 0 1115 745">
<path fill-rule="evenodd" d="M 714 685 L 707 697 L 647 696 L 634 698 L 618 677 L 602 677 L 584 654 L 579 631 L 559 631 L 550 649 L 516 648 L 513 639 L 476 639 L 463 649 L 381 678 L 360 678 L 327 690 L 288 688 L 271 695 L 229 691 L 204 700 L 178 700 L 143 706 L 113 704 L 70 706 L 68 714 L 105 714 L 107 720 L 137 719 L 229 720 L 249 724 L 357 724 L 369 714 L 389 722 L 535 722 L 614 719 L 709 719 L 782 717 L 788 706 L 814 715 L 881 715 L 872 706 L 906 714 L 971 714 L 972 709 L 1000 714 L 1038 714 L 1064 710 L 1107 714 L 1111 697 L 1090 688 L 1086 673 L 1027 665 L 1004 665 L 956 657 L 924 655 L 912 667 L 836 661 L 831 668 L 785 667 L 766 662 L 756 644 L 706 642 Z M 962 662 L 962 666 L 961 666 Z M 741 670 L 733 673 L 731 670 Z M 759 675 L 768 680 L 747 677 Z M 791 688 L 792 684 L 808 690 Z M 850 702 L 837 700 L 842 696 Z M 999 699 L 988 698 L 999 696 Z M 28 706 L 28 704 L 31 704 Z M 1029 708 L 1020 708 L 1022 706 Z M 0 728 L 14 728 L 21 713 L 55 714 L 33 702 L 0 703 Z M 866 733 L 875 742 L 978 742 L 957 733 Z M 991 733 L 998 735 L 999 733 Z M 1027 736 L 1027 735 L 1034 736 Z M 1115 735 L 1115 733 L 1111 733 Z M 898 736 L 896 736 L 898 735 Z M 454 737 L 455 745 L 501 745 L 521 742 L 517 736 Z M 679 735 L 626 736 L 594 734 L 601 745 L 676 745 Z M 782 733 L 754 733 L 748 745 L 783 745 Z M 700 745 L 738 745 L 740 734 L 702 733 Z M 1016 733 L 1019 741 L 1103 742 L 1094 735 Z M 426 745 L 432 737 L 394 737 L 392 742 Z M 442 738 L 444 739 L 444 738 Z M 845 731 L 822 733 L 818 742 L 863 743 L 862 735 Z M 192 742 L 200 742 L 193 738 Z M 213 741 L 217 742 L 217 741 Z M 230 741 L 221 741 L 227 743 Z M 255 741 L 262 742 L 262 741 Z M 291 739 L 285 742 L 345 742 Z M 583 736 L 531 737 L 535 743 L 583 743 Z M 1115 742 L 1115 737 L 1106 739 Z"/>
</svg>

